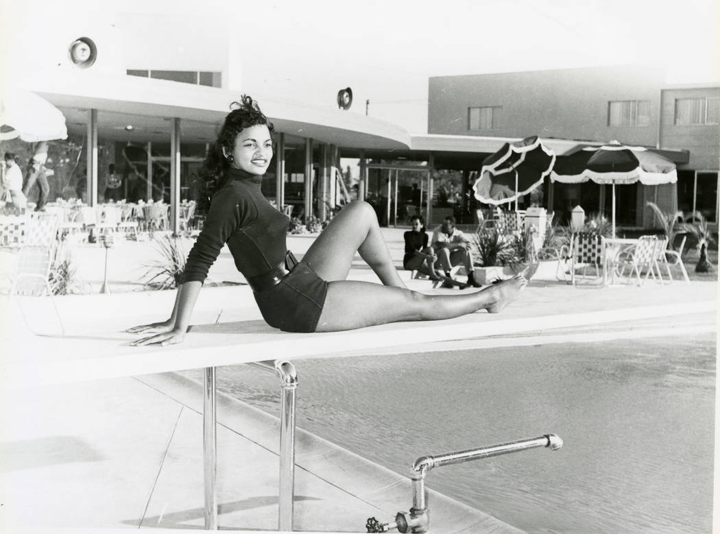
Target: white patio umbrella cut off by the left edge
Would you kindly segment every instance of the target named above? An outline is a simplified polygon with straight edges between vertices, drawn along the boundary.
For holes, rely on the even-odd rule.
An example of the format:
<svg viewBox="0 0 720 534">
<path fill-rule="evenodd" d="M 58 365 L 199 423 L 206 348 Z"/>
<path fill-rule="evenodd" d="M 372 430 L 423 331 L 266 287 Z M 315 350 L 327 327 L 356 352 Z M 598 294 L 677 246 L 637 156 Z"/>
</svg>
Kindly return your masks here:
<svg viewBox="0 0 720 534">
<path fill-rule="evenodd" d="M 15 137 L 26 142 L 66 139 L 65 116 L 35 93 L 4 90 L 0 94 L 0 140 Z"/>
</svg>

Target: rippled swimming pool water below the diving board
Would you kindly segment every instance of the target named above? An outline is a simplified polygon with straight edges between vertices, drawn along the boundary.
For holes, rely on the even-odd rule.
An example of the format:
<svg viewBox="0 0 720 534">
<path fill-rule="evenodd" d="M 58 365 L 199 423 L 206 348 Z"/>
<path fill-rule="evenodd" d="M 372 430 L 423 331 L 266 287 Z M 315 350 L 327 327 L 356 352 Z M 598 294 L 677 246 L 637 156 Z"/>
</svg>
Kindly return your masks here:
<svg viewBox="0 0 720 534">
<path fill-rule="evenodd" d="M 436 468 L 428 487 L 530 533 L 708 533 L 715 351 L 701 333 L 307 359 L 297 425 L 404 475 L 419 456 L 555 433 L 559 451 Z M 279 415 L 273 374 L 217 381 Z"/>
</svg>

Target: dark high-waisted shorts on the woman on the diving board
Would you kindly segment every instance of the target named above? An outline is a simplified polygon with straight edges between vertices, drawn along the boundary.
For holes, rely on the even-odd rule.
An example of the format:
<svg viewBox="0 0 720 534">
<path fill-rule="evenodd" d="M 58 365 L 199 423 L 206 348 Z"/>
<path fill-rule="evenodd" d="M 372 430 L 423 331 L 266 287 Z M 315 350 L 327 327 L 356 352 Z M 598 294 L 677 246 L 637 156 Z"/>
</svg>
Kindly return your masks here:
<svg viewBox="0 0 720 534">
<path fill-rule="evenodd" d="M 278 284 L 253 294 L 271 327 L 284 332 L 315 332 L 327 293 L 328 282 L 301 261 Z"/>
</svg>

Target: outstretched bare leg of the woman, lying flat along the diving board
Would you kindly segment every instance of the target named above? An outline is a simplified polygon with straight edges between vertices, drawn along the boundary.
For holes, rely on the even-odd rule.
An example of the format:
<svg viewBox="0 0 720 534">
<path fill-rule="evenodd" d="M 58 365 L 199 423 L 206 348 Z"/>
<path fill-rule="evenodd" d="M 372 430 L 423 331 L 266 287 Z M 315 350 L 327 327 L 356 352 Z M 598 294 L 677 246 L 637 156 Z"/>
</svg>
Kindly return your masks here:
<svg viewBox="0 0 720 534">
<path fill-rule="evenodd" d="M 498 313 L 518 297 L 526 284 L 526 279 L 516 276 L 474 293 L 426 295 L 372 282 L 333 281 L 328 284 L 317 331 L 352 330 L 397 321 L 450 319 L 479 309 Z"/>
</svg>

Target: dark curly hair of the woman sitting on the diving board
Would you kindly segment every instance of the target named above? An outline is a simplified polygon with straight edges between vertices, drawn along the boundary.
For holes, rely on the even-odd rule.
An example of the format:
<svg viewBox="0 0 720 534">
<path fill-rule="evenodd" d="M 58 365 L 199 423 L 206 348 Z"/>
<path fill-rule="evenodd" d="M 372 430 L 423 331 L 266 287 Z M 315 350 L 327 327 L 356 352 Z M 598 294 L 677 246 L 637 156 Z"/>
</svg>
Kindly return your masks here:
<svg viewBox="0 0 720 534">
<path fill-rule="evenodd" d="M 230 162 L 222 153 L 222 149 L 225 148 L 227 153 L 232 153 L 235 148 L 235 137 L 245 128 L 266 125 L 270 132 L 274 130 L 272 123 L 260 111 L 257 101 L 250 96 L 243 94 L 243 96 L 240 96 L 239 102 L 235 101 L 230 104 L 230 109 L 232 111 L 225 117 L 225 122 L 222 123 L 220 132 L 217 133 L 217 139 L 212 144 L 198 173 L 197 204 L 198 209 L 203 212 L 207 212 L 212 195 L 225 185 L 227 180 Z"/>
</svg>

